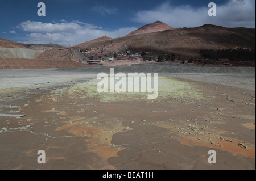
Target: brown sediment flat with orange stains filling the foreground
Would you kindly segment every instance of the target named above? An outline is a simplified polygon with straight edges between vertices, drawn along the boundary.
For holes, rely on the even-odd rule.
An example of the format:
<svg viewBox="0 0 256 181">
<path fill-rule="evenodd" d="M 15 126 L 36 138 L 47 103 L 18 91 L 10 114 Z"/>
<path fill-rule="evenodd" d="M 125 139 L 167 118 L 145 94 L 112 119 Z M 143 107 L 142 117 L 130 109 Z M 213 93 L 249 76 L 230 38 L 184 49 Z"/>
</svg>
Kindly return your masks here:
<svg viewBox="0 0 256 181">
<path fill-rule="evenodd" d="M 218 86 L 234 103 L 216 84 L 170 81 L 180 89 L 156 101 L 119 94 L 102 102 L 82 83 L 8 102 L 26 117 L 0 118 L 0 153 L 6 155 L 0 169 L 212 169 L 209 149 L 222 156 L 214 169 L 253 169 L 255 126 L 247 127 L 255 122 L 255 107 L 243 102 L 254 103 L 247 95 L 255 91 Z M 187 91 L 197 96 L 185 97 Z M 47 154 L 42 167 L 36 163 L 40 149 Z"/>
</svg>

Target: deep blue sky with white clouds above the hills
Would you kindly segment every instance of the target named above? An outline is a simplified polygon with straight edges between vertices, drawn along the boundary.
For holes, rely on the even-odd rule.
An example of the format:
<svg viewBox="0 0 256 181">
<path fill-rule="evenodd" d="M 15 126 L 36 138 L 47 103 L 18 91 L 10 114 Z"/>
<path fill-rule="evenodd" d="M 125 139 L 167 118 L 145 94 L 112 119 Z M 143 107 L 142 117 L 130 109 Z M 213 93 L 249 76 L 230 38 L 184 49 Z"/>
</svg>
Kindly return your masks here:
<svg viewBox="0 0 256 181">
<path fill-rule="evenodd" d="M 46 16 L 38 16 L 38 3 Z M 217 16 L 208 15 L 208 3 Z M 20 43 L 76 45 L 100 36 L 122 37 L 160 20 L 171 27 L 255 28 L 255 0 L 1 0 L 0 37 Z"/>
</svg>

